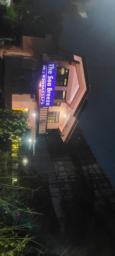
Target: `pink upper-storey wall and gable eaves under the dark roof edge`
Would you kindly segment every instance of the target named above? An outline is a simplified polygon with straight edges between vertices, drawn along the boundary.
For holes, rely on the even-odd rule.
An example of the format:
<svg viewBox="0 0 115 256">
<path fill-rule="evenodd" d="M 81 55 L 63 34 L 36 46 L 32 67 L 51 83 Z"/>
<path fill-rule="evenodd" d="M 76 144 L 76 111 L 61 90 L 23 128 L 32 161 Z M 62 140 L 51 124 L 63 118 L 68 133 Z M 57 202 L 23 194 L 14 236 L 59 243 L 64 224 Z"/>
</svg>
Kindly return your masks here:
<svg viewBox="0 0 115 256">
<path fill-rule="evenodd" d="M 80 104 L 85 92 L 86 81 L 84 76 L 84 69 L 82 58 L 74 55 L 74 59 L 79 63 L 53 59 L 57 62 L 58 67 L 69 69 L 69 78 L 67 86 L 55 86 L 55 90 L 66 91 L 66 100 L 54 100 L 54 102 L 61 102 L 61 106 L 49 107 L 49 111 L 59 111 L 59 123 L 47 124 L 47 129 L 59 129 L 63 141 L 66 140 L 68 133 L 76 124 L 76 118 L 73 116 L 78 105 Z M 46 54 L 43 54 L 44 61 L 52 61 Z"/>
</svg>

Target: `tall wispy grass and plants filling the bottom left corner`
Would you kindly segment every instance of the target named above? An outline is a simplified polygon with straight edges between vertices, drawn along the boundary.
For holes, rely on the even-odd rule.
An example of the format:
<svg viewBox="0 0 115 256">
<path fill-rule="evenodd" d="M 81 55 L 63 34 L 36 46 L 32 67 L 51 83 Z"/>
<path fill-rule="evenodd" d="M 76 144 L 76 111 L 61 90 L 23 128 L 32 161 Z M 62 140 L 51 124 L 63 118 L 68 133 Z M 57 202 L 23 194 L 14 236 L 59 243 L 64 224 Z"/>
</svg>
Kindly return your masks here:
<svg viewBox="0 0 115 256">
<path fill-rule="evenodd" d="M 18 169 L 13 169 L 15 161 L 19 163 Z M 37 207 L 40 193 L 44 193 L 44 182 L 36 173 L 30 176 L 28 172 L 27 176 L 26 171 L 24 177 L 23 167 L 21 151 L 20 157 L 15 158 L 12 157 L 12 148 L 6 153 L 0 150 L 0 256 L 25 256 L 29 252 L 43 254 L 44 247 L 38 243 L 32 230 L 41 216 Z M 12 182 L 14 178 L 18 183 Z"/>
</svg>

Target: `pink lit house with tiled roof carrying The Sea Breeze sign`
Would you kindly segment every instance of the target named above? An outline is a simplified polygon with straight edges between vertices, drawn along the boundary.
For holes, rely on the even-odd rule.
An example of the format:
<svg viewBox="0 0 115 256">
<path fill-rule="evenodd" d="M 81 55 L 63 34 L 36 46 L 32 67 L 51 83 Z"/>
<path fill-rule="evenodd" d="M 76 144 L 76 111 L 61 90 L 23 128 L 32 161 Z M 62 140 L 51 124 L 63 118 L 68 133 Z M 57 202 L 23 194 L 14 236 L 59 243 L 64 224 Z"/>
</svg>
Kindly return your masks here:
<svg viewBox="0 0 115 256">
<path fill-rule="evenodd" d="M 21 48 L 6 47 L 1 57 L 6 108 L 26 109 L 34 132 L 58 129 L 67 142 L 90 89 L 85 57 L 56 50 L 50 39 L 25 36 Z"/>
</svg>

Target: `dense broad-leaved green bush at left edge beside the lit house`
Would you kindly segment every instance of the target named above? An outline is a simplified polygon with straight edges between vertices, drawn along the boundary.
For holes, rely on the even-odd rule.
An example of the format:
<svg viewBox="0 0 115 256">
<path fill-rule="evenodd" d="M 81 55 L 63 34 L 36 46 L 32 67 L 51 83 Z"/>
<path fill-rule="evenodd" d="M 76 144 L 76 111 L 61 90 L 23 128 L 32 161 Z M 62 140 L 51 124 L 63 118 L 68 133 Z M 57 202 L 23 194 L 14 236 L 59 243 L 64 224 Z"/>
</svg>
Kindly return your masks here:
<svg viewBox="0 0 115 256">
<path fill-rule="evenodd" d="M 23 137 L 28 129 L 27 120 L 26 112 L 0 109 L 0 139 L 6 141 Z"/>
</svg>

